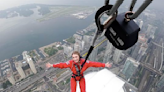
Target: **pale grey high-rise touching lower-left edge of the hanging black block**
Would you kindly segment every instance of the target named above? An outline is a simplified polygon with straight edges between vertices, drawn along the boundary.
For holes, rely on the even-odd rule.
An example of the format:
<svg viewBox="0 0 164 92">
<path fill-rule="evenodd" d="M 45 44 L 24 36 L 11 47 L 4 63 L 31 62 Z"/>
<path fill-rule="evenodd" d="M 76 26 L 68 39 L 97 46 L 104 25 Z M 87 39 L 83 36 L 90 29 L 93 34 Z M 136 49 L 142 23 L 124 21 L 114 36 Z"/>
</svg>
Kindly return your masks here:
<svg viewBox="0 0 164 92">
<path fill-rule="evenodd" d="M 113 45 L 109 41 L 107 41 L 107 46 L 105 49 L 105 54 L 104 54 L 104 59 L 103 59 L 104 63 L 109 61 L 111 53 L 112 53 L 112 47 Z"/>
</svg>

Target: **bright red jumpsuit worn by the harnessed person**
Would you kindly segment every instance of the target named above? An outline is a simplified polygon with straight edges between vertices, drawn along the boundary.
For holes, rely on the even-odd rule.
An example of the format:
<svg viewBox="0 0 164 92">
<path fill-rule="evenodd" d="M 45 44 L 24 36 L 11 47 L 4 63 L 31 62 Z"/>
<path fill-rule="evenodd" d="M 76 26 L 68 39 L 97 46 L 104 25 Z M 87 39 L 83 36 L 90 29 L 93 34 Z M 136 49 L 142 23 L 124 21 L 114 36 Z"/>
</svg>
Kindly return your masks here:
<svg viewBox="0 0 164 92">
<path fill-rule="evenodd" d="M 80 64 L 82 65 L 82 63 L 84 61 L 85 61 L 84 59 L 80 59 Z M 77 64 L 77 63 L 75 63 L 73 60 L 69 60 L 66 63 L 53 64 L 53 67 L 54 68 L 70 68 L 72 73 L 77 74 L 75 64 Z M 80 74 L 83 76 L 83 72 L 89 67 L 105 67 L 105 63 L 93 62 L 93 61 L 87 60 L 86 63 L 84 64 L 83 68 L 81 69 Z M 78 66 L 78 68 L 80 69 L 79 66 Z M 72 76 L 73 76 L 73 74 L 72 74 Z M 76 80 L 79 81 L 79 86 L 80 86 L 81 92 L 86 92 L 85 78 L 84 77 L 81 78 L 80 76 L 77 76 Z M 75 78 L 71 77 L 71 92 L 76 92 L 76 80 L 75 80 Z"/>
</svg>

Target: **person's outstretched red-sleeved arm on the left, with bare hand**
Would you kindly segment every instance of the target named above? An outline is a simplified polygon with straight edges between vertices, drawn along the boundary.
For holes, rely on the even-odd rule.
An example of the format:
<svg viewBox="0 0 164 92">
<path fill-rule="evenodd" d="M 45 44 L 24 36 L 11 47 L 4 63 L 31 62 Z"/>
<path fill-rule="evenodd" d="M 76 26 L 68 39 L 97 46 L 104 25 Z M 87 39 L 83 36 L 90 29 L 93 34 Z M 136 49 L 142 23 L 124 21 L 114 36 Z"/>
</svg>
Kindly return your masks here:
<svg viewBox="0 0 164 92">
<path fill-rule="evenodd" d="M 57 63 L 57 64 L 47 63 L 46 67 L 47 68 L 50 68 L 50 67 L 54 67 L 54 68 L 68 68 L 68 67 L 70 67 L 70 63 L 69 63 L 69 61 L 67 61 L 66 63 Z"/>
</svg>

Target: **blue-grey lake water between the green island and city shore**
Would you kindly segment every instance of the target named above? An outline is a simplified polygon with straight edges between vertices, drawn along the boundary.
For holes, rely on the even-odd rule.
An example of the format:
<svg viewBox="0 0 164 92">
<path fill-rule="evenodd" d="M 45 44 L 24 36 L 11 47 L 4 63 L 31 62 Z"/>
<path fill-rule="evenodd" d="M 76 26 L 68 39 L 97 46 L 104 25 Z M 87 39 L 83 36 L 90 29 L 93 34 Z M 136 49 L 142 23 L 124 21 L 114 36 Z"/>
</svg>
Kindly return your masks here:
<svg viewBox="0 0 164 92">
<path fill-rule="evenodd" d="M 35 15 L 35 14 L 34 14 Z M 0 19 L 0 60 L 22 54 L 72 36 L 93 23 L 94 14 L 80 20 L 58 17 L 44 22 L 36 21 L 40 15 Z"/>
</svg>

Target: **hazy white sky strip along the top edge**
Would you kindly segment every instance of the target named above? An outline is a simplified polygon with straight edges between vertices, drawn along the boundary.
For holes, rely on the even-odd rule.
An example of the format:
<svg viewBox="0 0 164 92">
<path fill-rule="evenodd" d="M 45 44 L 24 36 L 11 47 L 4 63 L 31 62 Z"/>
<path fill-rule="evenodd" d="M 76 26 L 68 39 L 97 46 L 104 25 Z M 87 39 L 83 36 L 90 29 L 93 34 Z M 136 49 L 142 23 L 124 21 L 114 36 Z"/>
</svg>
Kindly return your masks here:
<svg viewBox="0 0 164 92">
<path fill-rule="evenodd" d="M 7 8 L 12 8 L 25 4 L 55 4 L 55 5 L 91 5 L 91 6 L 102 6 L 105 0 L 1 0 L 0 1 L 0 10 Z M 124 4 L 129 4 L 131 0 L 124 0 Z M 141 4 L 145 0 L 137 0 L 137 4 Z M 110 0 L 110 3 L 114 4 L 116 0 Z M 149 7 L 164 9 L 162 0 L 153 0 Z"/>
</svg>

